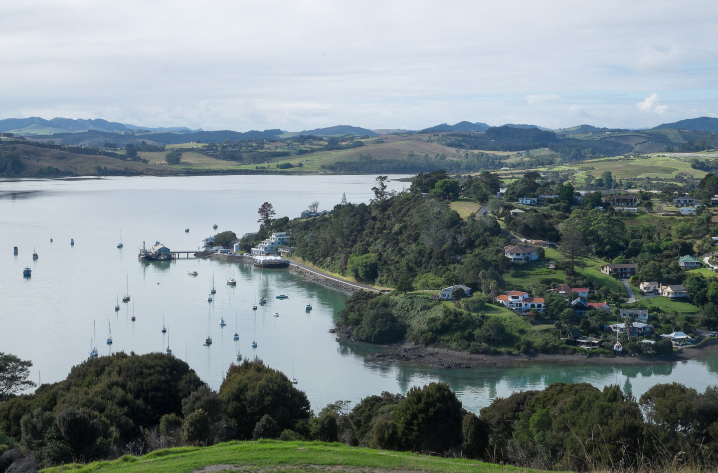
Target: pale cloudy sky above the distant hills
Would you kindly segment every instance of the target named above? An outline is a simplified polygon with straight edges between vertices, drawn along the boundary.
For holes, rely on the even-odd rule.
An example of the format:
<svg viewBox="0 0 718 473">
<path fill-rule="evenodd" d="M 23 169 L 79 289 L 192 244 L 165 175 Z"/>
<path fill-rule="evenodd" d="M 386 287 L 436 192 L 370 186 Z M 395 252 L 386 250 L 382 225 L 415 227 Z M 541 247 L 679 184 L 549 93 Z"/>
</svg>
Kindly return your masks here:
<svg viewBox="0 0 718 473">
<path fill-rule="evenodd" d="M 418 130 L 718 117 L 718 2 L 29 0 L 1 118 Z"/>
</svg>

